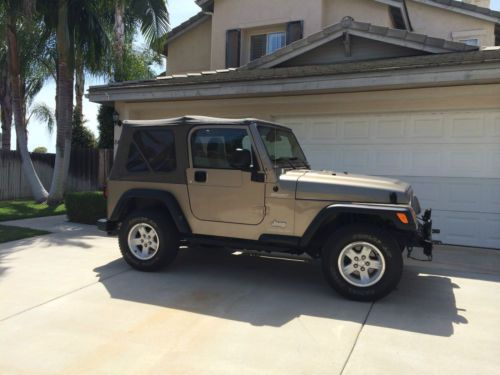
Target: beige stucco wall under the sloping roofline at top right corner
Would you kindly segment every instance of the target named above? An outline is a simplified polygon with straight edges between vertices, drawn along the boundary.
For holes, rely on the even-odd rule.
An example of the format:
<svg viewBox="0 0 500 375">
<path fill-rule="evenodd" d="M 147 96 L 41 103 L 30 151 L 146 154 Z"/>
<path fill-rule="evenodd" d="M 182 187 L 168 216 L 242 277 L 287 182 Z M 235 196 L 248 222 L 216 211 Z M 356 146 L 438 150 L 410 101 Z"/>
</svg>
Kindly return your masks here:
<svg viewBox="0 0 500 375">
<path fill-rule="evenodd" d="M 492 22 L 411 0 L 407 1 L 406 4 L 411 24 L 417 33 L 453 40 L 452 32 L 484 30 L 484 35 L 471 37 L 480 39 L 482 46 L 495 45 L 495 24 Z"/>
</svg>

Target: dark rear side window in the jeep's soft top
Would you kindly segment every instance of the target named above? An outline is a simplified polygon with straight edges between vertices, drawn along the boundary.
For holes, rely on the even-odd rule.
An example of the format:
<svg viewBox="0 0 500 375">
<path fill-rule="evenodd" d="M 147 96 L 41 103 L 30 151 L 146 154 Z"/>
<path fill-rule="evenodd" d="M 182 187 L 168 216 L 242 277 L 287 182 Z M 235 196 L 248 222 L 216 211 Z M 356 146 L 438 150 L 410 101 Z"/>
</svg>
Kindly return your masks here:
<svg viewBox="0 0 500 375">
<path fill-rule="evenodd" d="M 175 168 L 175 141 L 171 130 L 134 132 L 128 153 L 127 171 L 172 172 Z"/>
</svg>

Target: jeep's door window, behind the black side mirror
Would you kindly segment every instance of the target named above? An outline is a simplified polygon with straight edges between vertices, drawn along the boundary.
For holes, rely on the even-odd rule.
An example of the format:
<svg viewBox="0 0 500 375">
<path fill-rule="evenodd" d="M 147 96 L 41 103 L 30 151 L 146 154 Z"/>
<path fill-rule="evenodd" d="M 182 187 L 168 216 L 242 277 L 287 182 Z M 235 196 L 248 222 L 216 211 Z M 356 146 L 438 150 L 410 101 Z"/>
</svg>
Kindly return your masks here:
<svg viewBox="0 0 500 375">
<path fill-rule="evenodd" d="M 252 143 L 245 129 L 199 129 L 191 135 L 194 168 L 239 169 L 235 165 L 241 163 L 243 150 L 251 167 Z"/>
</svg>

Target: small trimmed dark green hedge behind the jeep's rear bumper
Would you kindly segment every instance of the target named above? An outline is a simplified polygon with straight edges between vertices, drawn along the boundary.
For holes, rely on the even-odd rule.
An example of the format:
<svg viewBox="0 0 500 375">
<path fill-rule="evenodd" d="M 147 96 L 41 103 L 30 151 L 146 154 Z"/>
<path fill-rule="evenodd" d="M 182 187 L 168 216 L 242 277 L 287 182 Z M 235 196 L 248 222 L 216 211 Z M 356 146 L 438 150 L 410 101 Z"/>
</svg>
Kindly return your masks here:
<svg viewBox="0 0 500 375">
<path fill-rule="evenodd" d="M 100 191 L 68 193 L 64 199 L 69 221 L 96 224 L 106 217 L 106 198 Z"/>
</svg>

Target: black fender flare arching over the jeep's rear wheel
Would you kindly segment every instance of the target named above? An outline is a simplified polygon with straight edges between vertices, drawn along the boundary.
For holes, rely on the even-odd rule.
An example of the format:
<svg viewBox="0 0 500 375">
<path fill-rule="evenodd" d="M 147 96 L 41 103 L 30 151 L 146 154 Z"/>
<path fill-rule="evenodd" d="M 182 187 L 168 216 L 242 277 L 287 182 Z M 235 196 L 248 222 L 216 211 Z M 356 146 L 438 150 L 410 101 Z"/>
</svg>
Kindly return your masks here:
<svg viewBox="0 0 500 375">
<path fill-rule="evenodd" d="M 191 228 L 189 226 L 186 217 L 184 216 L 184 212 L 177 202 L 177 199 L 173 196 L 172 193 L 163 190 L 155 190 L 155 189 L 131 189 L 127 190 L 122 194 L 118 203 L 113 210 L 113 213 L 110 216 L 110 221 L 120 221 L 125 209 L 127 207 L 128 202 L 134 198 L 144 198 L 144 199 L 154 199 L 163 203 L 163 205 L 167 208 L 170 216 L 174 220 L 174 223 L 179 231 L 182 234 L 190 234 Z"/>
</svg>

